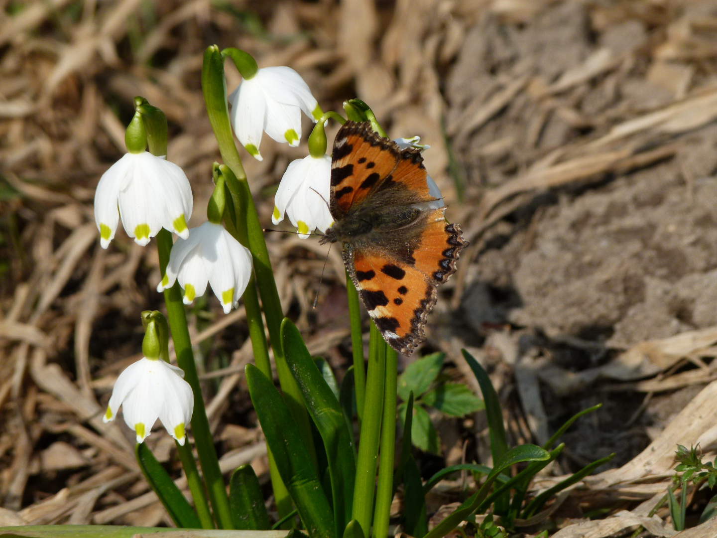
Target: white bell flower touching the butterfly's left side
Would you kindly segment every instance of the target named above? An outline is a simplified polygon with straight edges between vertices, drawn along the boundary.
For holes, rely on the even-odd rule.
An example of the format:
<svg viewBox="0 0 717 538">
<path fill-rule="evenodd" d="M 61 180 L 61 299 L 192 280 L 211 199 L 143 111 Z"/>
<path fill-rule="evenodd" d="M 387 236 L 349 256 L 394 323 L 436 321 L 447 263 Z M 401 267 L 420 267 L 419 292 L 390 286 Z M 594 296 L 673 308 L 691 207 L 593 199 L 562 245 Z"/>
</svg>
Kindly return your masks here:
<svg viewBox="0 0 717 538">
<path fill-rule="evenodd" d="M 315 229 L 326 232 L 333 223 L 328 210 L 330 192 L 330 156 L 309 155 L 291 161 L 274 198 L 272 222 L 276 225 L 284 219 L 284 213 L 288 214 L 301 239 L 309 237 L 309 232 Z"/>
</svg>

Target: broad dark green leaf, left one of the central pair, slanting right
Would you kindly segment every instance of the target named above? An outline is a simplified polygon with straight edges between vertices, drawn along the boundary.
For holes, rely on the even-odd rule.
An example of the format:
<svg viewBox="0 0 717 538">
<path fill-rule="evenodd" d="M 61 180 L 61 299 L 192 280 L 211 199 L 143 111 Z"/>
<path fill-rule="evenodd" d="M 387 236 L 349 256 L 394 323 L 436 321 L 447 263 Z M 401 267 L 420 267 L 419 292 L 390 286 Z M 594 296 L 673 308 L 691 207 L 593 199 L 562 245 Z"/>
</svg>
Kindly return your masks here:
<svg viewBox="0 0 717 538">
<path fill-rule="evenodd" d="M 309 536 L 336 537 L 331 508 L 288 407 L 260 369 L 247 364 L 244 372 L 267 445 Z"/>
</svg>

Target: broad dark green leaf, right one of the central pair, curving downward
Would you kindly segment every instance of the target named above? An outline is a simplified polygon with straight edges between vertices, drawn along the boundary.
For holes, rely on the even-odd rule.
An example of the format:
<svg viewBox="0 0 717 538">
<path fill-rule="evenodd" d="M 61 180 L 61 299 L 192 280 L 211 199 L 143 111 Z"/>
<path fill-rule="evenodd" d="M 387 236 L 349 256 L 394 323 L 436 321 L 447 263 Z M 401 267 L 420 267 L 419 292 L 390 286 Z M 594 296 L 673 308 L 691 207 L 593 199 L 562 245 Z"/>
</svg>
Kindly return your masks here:
<svg viewBox="0 0 717 538">
<path fill-rule="evenodd" d="M 353 435 L 348 430 L 336 396 L 311 360 L 300 332 L 289 319 L 281 324 L 281 336 L 286 361 L 326 450 L 338 536 L 351 520 L 353 483 L 356 479 Z"/>
</svg>

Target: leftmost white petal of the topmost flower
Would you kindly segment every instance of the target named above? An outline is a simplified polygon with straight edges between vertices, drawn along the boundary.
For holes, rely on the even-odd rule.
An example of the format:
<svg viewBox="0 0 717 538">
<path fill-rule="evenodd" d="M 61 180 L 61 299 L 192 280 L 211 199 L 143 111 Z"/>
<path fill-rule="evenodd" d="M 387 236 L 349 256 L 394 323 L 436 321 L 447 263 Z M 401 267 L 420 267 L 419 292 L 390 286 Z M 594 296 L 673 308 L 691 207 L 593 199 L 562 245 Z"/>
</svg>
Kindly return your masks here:
<svg viewBox="0 0 717 538">
<path fill-rule="evenodd" d="M 261 161 L 262 156 L 258 151 L 264 129 L 266 98 L 261 85 L 257 83 L 255 78 L 242 80 L 239 88 L 235 93 L 232 93 L 234 100 L 232 100 L 230 118 L 239 142 L 250 153 L 252 153 L 251 146 L 256 148 L 257 153 L 254 157 Z"/>
</svg>

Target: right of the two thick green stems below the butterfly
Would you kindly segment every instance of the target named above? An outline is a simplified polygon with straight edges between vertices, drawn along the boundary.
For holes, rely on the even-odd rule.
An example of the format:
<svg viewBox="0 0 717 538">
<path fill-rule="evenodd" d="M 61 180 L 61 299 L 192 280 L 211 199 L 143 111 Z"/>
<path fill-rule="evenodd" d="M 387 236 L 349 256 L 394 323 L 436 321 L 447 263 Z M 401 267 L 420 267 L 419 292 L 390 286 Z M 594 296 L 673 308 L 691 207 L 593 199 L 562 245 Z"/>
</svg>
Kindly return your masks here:
<svg viewBox="0 0 717 538">
<path fill-rule="evenodd" d="M 396 448 L 398 354 L 385 341 L 379 342 L 379 346 L 381 344 L 384 346 L 386 355 L 386 385 L 384 387 L 384 418 L 381 423 L 381 465 L 379 466 L 379 485 L 376 491 L 376 510 L 374 512 L 374 538 L 384 538 L 389 535 L 389 516 L 394 496 L 394 452 Z"/>
</svg>

